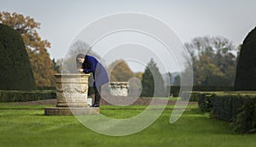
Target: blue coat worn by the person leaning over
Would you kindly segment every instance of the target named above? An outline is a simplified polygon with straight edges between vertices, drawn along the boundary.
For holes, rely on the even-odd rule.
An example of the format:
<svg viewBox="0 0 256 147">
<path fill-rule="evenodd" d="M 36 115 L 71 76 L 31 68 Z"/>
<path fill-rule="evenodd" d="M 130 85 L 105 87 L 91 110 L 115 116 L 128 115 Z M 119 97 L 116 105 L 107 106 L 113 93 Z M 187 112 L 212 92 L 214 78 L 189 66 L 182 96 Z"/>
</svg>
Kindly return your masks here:
<svg viewBox="0 0 256 147">
<path fill-rule="evenodd" d="M 107 71 L 96 58 L 90 55 L 85 55 L 82 67 L 84 69 L 84 73 L 88 74 L 92 72 L 94 79 L 93 86 L 95 88 L 109 82 Z"/>
</svg>

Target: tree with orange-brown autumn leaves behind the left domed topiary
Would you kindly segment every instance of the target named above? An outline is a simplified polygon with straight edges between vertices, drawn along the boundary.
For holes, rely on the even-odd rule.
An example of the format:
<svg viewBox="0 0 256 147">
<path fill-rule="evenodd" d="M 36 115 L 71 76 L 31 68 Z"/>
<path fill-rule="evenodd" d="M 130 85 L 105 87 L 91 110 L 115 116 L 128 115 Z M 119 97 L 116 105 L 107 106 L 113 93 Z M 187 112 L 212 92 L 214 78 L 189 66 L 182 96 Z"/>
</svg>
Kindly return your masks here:
<svg viewBox="0 0 256 147">
<path fill-rule="evenodd" d="M 55 70 L 47 52 L 50 43 L 39 36 L 40 23 L 30 16 L 9 12 L 0 12 L 0 23 L 9 25 L 23 38 L 37 86 L 52 86 L 55 82 Z"/>
</svg>

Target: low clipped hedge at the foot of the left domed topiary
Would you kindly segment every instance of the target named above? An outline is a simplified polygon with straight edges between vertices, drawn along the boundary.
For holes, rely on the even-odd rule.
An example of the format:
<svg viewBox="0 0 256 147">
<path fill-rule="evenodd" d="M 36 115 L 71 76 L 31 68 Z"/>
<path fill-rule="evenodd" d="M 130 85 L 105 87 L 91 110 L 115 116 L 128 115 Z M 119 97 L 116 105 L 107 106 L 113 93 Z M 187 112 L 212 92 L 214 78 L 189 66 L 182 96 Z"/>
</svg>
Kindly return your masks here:
<svg viewBox="0 0 256 147">
<path fill-rule="evenodd" d="M 55 90 L 0 90 L 0 102 L 26 102 L 43 99 L 56 99 Z"/>
</svg>

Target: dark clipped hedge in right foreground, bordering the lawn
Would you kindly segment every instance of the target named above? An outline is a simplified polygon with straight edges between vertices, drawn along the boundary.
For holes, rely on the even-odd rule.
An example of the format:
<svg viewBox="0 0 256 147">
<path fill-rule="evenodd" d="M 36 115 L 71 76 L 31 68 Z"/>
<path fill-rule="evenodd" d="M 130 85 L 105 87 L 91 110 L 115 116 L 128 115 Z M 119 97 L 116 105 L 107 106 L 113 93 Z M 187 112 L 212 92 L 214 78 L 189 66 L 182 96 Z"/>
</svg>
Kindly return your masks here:
<svg viewBox="0 0 256 147">
<path fill-rule="evenodd" d="M 256 133 L 255 92 L 198 92 L 197 95 L 202 111 L 231 122 L 236 133 Z"/>
</svg>

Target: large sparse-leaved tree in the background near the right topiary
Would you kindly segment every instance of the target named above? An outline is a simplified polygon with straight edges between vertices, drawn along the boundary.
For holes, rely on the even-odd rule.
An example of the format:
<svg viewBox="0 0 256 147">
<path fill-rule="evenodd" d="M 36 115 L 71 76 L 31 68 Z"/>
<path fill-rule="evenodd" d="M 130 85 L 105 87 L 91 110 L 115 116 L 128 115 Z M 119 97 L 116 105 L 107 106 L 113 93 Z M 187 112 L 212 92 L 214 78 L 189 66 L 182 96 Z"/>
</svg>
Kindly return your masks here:
<svg viewBox="0 0 256 147">
<path fill-rule="evenodd" d="M 236 72 L 236 48 L 225 37 L 195 37 L 185 43 L 191 57 L 194 85 L 231 86 Z M 189 61 L 190 62 L 190 61 Z"/>
</svg>

